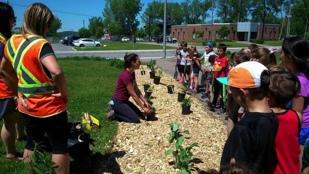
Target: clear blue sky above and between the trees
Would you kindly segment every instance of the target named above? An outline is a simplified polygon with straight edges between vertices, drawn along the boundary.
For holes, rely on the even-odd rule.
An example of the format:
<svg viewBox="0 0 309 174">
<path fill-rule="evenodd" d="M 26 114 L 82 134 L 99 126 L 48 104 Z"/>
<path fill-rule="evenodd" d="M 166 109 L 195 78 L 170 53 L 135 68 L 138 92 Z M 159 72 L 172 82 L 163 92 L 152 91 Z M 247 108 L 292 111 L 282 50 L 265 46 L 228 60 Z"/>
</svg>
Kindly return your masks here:
<svg viewBox="0 0 309 174">
<path fill-rule="evenodd" d="M 6 0 L 0 0 L 1 2 L 6 2 Z M 163 0 L 162 0 L 163 1 Z M 184 0 L 179 0 L 178 2 L 183 2 Z M 88 19 L 91 16 L 101 16 L 102 11 L 105 7 L 104 0 L 42 0 L 42 1 L 34 1 L 34 0 L 9 0 L 9 4 L 13 7 L 15 11 L 15 16 L 17 17 L 16 27 L 20 27 L 23 20 L 23 13 L 26 10 L 26 7 L 34 2 L 41 2 L 49 7 L 50 10 L 53 11 L 54 14 L 62 22 L 62 28 L 58 30 L 58 32 L 62 31 L 78 31 L 79 28 L 83 27 L 83 20 L 85 20 L 85 27 L 88 26 L 89 21 Z M 145 11 L 148 2 L 152 2 L 152 0 L 141 0 L 144 3 L 142 11 L 140 15 Z M 167 2 L 176 2 L 176 0 L 167 0 Z M 68 12 L 68 13 L 77 13 L 82 15 L 89 15 L 89 16 L 82 16 L 82 15 L 73 15 L 73 14 L 65 14 L 61 12 Z M 209 11 L 211 15 L 211 11 Z M 138 20 L 141 22 L 140 15 L 138 15 Z M 215 12 L 214 12 L 215 16 Z M 210 19 L 206 19 L 208 21 Z M 140 23 L 140 27 L 144 24 Z"/>
</svg>

